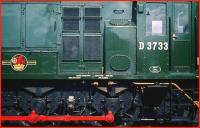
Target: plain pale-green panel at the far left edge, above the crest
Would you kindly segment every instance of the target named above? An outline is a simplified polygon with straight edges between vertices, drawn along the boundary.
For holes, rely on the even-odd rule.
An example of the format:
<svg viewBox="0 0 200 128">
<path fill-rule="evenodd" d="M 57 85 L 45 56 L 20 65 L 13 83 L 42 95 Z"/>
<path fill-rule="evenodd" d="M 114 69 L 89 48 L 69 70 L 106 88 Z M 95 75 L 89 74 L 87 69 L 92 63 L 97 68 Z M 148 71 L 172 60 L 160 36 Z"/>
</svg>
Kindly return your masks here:
<svg viewBox="0 0 200 128">
<path fill-rule="evenodd" d="M 21 43 L 21 4 L 2 4 L 2 46 L 19 48 Z"/>
</svg>

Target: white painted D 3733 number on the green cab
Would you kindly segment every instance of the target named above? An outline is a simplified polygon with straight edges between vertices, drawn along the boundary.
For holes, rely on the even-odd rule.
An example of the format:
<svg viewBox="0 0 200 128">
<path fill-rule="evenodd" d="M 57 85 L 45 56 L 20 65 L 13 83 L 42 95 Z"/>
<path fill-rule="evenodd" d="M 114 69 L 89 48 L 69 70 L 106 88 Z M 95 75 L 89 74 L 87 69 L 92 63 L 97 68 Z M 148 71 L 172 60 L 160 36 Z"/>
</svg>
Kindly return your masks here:
<svg viewBox="0 0 200 128">
<path fill-rule="evenodd" d="M 139 50 L 168 50 L 167 42 L 147 42 L 146 45 L 144 42 L 139 42 Z"/>
</svg>

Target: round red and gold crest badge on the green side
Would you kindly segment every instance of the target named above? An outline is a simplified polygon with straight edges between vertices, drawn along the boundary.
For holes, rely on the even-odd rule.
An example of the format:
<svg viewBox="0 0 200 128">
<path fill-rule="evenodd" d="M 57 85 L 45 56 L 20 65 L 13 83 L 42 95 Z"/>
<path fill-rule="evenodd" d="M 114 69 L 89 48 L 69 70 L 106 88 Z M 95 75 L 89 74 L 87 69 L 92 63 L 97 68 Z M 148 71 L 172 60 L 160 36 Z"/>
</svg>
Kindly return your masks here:
<svg viewBox="0 0 200 128">
<path fill-rule="evenodd" d="M 22 54 L 16 54 L 11 58 L 11 67 L 15 71 L 23 71 L 27 67 L 27 59 Z"/>
</svg>

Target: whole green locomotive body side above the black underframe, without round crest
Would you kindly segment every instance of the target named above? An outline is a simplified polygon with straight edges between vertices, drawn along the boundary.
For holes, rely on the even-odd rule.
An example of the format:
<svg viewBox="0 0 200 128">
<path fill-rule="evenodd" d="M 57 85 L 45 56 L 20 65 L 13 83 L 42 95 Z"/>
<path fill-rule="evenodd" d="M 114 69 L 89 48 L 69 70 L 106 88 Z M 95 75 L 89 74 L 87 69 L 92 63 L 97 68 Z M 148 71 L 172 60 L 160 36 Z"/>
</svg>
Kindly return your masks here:
<svg viewBox="0 0 200 128">
<path fill-rule="evenodd" d="M 5 3 L 3 78 L 195 79 L 197 4 L 183 5 Z M 11 66 L 16 54 L 27 58 L 23 71 Z"/>
</svg>

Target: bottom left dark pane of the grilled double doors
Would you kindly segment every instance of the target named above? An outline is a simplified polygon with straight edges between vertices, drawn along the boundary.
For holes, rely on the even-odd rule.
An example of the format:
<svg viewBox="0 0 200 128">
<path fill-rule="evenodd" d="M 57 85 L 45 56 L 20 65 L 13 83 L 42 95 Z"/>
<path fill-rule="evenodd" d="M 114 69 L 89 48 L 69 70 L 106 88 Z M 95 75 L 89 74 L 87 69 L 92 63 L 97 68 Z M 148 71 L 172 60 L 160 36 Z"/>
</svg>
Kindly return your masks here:
<svg viewBox="0 0 200 128">
<path fill-rule="evenodd" d="M 79 59 L 79 37 L 63 36 L 63 60 Z"/>
</svg>

